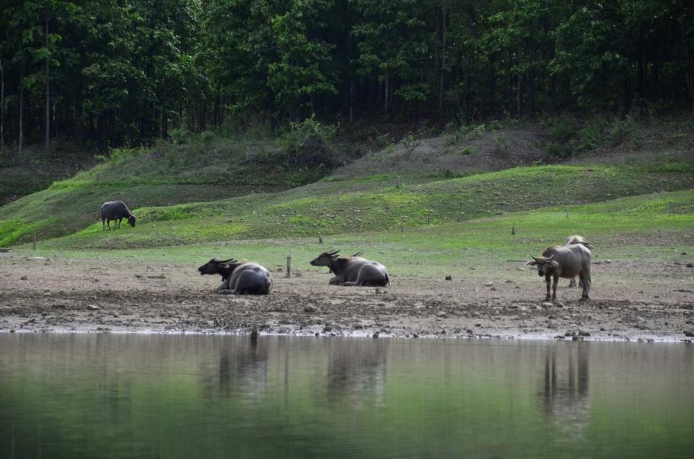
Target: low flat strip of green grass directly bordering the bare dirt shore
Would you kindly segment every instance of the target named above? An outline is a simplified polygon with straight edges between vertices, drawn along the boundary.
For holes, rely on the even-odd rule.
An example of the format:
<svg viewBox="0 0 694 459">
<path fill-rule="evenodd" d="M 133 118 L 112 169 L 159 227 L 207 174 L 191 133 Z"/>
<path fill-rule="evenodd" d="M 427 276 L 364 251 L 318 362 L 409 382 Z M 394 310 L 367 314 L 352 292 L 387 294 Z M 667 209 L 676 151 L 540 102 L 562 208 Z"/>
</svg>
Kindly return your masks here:
<svg viewBox="0 0 694 459">
<path fill-rule="evenodd" d="M 176 220 L 176 224 L 189 223 L 188 230 L 197 227 L 201 233 L 196 237 L 204 239 L 205 221 L 189 218 Z M 511 235 L 513 225 L 516 226 L 515 236 Z M 694 252 L 694 191 L 575 205 L 570 207 L 568 218 L 565 207 L 547 207 L 462 223 L 409 228 L 404 233 L 391 230 L 326 236 L 322 245 L 314 237 L 235 239 L 234 236 L 242 234 L 243 225 L 233 223 L 227 235 L 210 238 L 208 242 L 189 244 L 189 239 L 169 239 L 175 238 L 172 235 L 179 230 L 180 227 L 167 229 L 164 225 L 160 233 L 143 236 L 128 229 L 105 234 L 90 229 L 76 236 L 44 241 L 37 252 L 29 245 L 15 248 L 15 251 L 18 254 L 56 256 L 60 253 L 61 257 L 93 258 L 95 252 L 91 249 L 94 247 L 90 244 L 98 242 L 102 248 L 121 248 L 96 252 L 101 259 L 193 264 L 211 257 L 236 257 L 254 259 L 273 268 L 291 255 L 295 266 L 305 269 L 310 268 L 308 261 L 323 250 L 341 248 L 346 254 L 363 250 L 366 257 L 382 261 L 398 275 L 421 275 L 421 262 L 425 262 L 425 275 L 436 277 L 460 266 L 475 266 L 475 274 L 482 275 L 498 270 L 505 260 L 528 259 L 530 252 L 539 254 L 548 245 L 563 243 L 566 236 L 577 233 L 595 244 L 596 259 L 661 262 L 682 259 L 679 255 L 682 251 Z M 187 244 L 171 249 L 154 246 L 157 242 Z"/>
</svg>

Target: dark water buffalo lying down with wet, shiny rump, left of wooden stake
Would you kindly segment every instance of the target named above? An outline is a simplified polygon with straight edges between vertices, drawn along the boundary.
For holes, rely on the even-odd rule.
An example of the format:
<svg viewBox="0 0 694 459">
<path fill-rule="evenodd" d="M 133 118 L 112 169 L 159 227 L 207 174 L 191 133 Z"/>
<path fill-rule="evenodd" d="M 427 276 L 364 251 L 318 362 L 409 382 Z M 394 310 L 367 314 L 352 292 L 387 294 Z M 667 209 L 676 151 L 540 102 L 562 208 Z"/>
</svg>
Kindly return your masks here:
<svg viewBox="0 0 694 459">
<path fill-rule="evenodd" d="M 237 261 L 236 259 L 211 259 L 198 268 L 201 275 L 221 275 L 221 285 L 217 293 L 232 293 L 233 295 L 267 295 L 272 290 L 270 272 L 253 261 Z"/>
</svg>

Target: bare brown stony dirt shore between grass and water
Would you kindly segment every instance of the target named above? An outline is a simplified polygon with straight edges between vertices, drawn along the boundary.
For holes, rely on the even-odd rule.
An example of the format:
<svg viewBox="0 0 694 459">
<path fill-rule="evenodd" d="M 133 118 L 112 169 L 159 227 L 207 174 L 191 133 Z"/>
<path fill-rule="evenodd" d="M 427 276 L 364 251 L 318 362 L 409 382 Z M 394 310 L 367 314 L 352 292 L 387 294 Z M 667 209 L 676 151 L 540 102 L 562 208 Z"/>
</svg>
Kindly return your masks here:
<svg viewBox="0 0 694 459">
<path fill-rule="evenodd" d="M 498 275 L 458 268 L 451 281 L 391 272 L 386 288 L 329 286 L 325 270 L 276 272 L 271 295 L 237 297 L 214 293 L 219 277 L 196 266 L 10 252 L 0 253 L 0 332 L 246 334 L 257 323 L 260 334 L 689 341 L 687 264 L 603 263 L 593 300 L 577 301 L 561 279 L 550 305 L 544 280 L 521 262 Z"/>
</svg>

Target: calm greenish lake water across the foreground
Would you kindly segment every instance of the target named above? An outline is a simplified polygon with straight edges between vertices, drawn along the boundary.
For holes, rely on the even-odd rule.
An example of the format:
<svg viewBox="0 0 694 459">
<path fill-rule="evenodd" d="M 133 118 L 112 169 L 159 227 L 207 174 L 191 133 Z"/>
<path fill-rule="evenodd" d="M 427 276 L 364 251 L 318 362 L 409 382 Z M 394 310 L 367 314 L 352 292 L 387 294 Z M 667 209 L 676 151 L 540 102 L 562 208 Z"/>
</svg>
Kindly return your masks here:
<svg viewBox="0 0 694 459">
<path fill-rule="evenodd" d="M 694 346 L 0 334 L 0 458 L 694 457 Z"/>
</svg>

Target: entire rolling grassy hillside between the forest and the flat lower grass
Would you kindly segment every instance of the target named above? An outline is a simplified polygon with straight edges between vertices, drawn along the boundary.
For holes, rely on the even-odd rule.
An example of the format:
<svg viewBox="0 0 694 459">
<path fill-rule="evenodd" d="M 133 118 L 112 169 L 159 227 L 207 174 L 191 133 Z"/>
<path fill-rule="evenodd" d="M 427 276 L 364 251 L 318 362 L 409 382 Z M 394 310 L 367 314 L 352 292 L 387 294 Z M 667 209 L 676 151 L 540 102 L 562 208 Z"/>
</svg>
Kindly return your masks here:
<svg viewBox="0 0 694 459">
<path fill-rule="evenodd" d="M 631 140 L 611 148 L 603 144 L 598 157 L 575 155 L 571 165 L 477 174 L 474 163 L 465 162 L 456 163 L 457 172 L 432 171 L 450 165 L 456 149 L 474 145 L 486 145 L 486 168 L 503 166 L 521 148 L 518 139 L 524 135 L 535 143 L 525 152 L 530 156 L 518 157 L 534 157 L 541 137 L 498 128 L 466 129 L 439 139 L 408 137 L 397 148 L 387 146 L 305 186 L 299 185 L 325 175 L 326 169 L 289 167 L 272 142 L 198 139 L 186 146 L 117 150 L 109 162 L 0 207 L 0 245 L 27 243 L 37 234 L 42 241 L 69 235 L 43 243 L 48 247 L 146 248 L 387 232 L 551 206 L 566 214 L 566 206 L 694 189 L 692 132 L 677 126 L 668 126 L 669 134 L 660 140 L 641 142 L 641 148 L 627 146 Z M 549 132 L 550 138 L 557 137 Z M 509 146 L 499 142 L 509 135 L 518 140 L 513 149 L 498 150 Z M 564 138 L 563 148 L 578 148 L 579 138 Z M 403 166 L 408 151 L 428 158 L 435 170 Z M 379 155 L 388 161 L 378 164 L 393 164 L 391 173 L 369 167 Z M 101 224 L 94 223 L 101 202 L 113 199 L 135 211 L 137 227 L 102 232 Z"/>
</svg>

